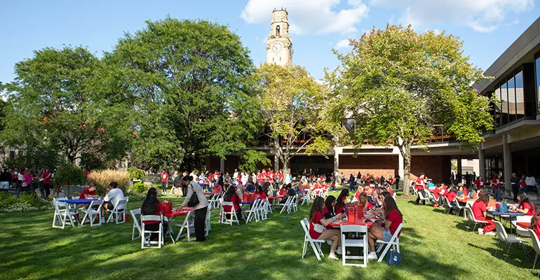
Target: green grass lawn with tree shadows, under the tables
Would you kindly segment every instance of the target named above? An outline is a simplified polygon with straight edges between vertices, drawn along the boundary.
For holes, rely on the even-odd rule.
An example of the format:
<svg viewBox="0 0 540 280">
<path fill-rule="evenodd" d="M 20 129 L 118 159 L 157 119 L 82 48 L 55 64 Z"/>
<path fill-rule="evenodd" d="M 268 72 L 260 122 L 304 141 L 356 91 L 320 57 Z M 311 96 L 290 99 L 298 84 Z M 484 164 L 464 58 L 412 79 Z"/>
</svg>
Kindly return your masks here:
<svg viewBox="0 0 540 280">
<path fill-rule="evenodd" d="M 367 268 L 318 262 L 311 250 L 301 258 L 306 206 L 288 220 L 271 214 L 239 226 L 217 223 L 215 212 L 207 242 L 180 239 L 144 251 L 140 239 L 131 241 L 131 222 L 62 230 L 51 228 L 50 211 L 0 214 L 0 279 L 534 279 L 534 255 L 524 258 L 522 248 L 504 261 L 501 252 L 493 256 L 496 239 L 465 232 L 462 218 L 410 200 L 398 206 L 407 221 L 403 264 L 371 261 Z M 330 247 L 323 247 L 328 255 Z"/>
</svg>

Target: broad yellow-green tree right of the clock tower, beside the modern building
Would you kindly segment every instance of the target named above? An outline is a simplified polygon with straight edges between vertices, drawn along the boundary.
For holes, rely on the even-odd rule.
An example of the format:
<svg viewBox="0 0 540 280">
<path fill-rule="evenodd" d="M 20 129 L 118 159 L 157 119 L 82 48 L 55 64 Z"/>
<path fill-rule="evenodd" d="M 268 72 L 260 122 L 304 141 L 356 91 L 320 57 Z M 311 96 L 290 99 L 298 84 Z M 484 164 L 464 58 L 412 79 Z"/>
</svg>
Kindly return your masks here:
<svg viewBox="0 0 540 280">
<path fill-rule="evenodd" d="M 356 120 L 356 146 L 399 148 L 405 195 L 413 143 L 425 147 L 442 126 L 462 148 L 478 148 L 482 129 L 492 128 L 490 100 L 472 87 L 485 77 L 464 56 L 459 38 L 387 25 L 350 45 L 349 53 L 337 54 L 342 65 L 327 75 L 337 99 L 332 116 Z"/>
</svg>

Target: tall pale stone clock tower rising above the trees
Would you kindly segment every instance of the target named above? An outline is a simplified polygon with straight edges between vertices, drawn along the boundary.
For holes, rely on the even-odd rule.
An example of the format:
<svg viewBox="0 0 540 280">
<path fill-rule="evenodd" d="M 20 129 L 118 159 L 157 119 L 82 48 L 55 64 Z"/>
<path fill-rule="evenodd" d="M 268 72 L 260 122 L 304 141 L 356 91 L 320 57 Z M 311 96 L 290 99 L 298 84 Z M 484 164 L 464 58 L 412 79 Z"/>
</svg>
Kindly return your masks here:
<svg viewBox="0 0 540 280">
<path fill-rule="evenodd" d="M 292 41 L 289 36 L 289 13 L 286 9 L 272 11 L 271 30 L 266 44 L 266 62 L 292 66 Z"/>
</svg>

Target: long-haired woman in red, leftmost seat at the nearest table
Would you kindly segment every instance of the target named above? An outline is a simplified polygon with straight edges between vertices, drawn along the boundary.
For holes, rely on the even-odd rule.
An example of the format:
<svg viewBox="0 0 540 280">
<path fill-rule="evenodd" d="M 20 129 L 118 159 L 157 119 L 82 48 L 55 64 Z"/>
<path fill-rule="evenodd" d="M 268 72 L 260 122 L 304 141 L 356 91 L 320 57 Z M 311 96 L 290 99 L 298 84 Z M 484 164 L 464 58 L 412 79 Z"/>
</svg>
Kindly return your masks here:
<svg viewBox="0 0 540 280">
<path fill-rule="evenodd" d="M 328 227 L 330 223 L 339 220 L 339 218 L 325 219 L 323 213 L 324 207 L 325 200 L 323 197 L 315 197 L 313 205 L 311 205 L 311 210 L 309 211 L 309 221 L 311 222 L 309 223 L 309 236 L 313 239 L 332 241 L 328 258 L 337 260 L 336 248 L 341 245 L 341 233 L 339 230 L 328 230 L 326 227 Z"/>
</svg>

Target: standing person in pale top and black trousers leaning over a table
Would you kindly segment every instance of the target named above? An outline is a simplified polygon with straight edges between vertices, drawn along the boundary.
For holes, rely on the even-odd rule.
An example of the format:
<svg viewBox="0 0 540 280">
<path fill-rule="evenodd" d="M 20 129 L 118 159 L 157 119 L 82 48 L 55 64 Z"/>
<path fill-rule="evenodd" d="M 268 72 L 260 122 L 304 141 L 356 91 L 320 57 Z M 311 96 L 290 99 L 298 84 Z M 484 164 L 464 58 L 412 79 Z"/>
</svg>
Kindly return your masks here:
<svg viewBox="0 0 540 280">
<path fill-rule="evenodd" d="M 184 176 L 184 185 L 187 186 L 187 197 L 186 200 L 182 202 L 182 206 L 180 207 L 180 209 L 187 206 L 187 203 L 189 202 L 189 200 L 191 200 L 192 196 L 197 196 L 198 204 L 193 207 L 195 211 L 195 236 L 196 241 L 205 241 L 206 238 L 204 237 L 204 224 L 206 219 L 206 212 L 208 211 L 208 200 L 206 200 L 206 197 L 204 196 L 203 188 L 201 187 L 201 185 L 193 181 L 193 177 Z"/>
</svg>

